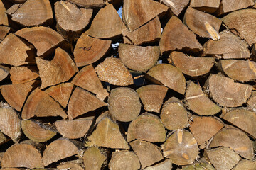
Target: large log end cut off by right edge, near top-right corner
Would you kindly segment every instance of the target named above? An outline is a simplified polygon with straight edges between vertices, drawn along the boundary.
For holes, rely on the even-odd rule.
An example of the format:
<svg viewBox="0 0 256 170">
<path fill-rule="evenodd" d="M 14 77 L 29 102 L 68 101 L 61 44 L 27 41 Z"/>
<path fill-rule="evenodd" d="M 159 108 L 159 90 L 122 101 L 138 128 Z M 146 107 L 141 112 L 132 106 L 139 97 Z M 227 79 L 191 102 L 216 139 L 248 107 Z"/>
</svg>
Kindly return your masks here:
<svg viewBox="0 0 256 170">
<path fill-rule="evenodd" d="M 230 30 L 234 30 L 240 38 L 245 39 L 249 45 L 256 43 L 256 10 L 255 9 L 242 9 L 229 13 L 222 18 L 223 23 Z"/>
</svg>

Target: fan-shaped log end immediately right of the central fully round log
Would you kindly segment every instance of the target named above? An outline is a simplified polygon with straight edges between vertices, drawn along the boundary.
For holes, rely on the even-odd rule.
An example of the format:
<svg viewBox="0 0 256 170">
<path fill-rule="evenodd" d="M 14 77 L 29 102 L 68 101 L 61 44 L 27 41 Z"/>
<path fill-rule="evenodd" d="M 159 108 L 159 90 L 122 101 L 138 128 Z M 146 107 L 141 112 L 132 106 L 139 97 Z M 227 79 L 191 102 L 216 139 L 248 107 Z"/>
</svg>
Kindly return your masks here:
<svg viewBox="0 0 256 170">
<path fill-rule="evenodd" d="M 136 90 L 142 100 L 144 109 L 149 112 L 160 112 L 168 88 L 160 85 L 146 85 Z"/>
</svg>

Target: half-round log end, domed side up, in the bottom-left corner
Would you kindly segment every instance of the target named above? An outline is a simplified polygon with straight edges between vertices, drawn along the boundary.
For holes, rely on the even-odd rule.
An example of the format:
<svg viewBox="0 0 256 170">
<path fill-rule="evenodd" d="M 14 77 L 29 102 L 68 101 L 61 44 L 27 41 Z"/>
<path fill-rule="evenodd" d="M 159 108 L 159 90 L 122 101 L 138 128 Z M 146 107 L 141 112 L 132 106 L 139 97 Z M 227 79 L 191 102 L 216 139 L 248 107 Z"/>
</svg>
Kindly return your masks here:
<svg viewBox="0 0 256 170">
<path fill-rule="evenodd" d="M 24 167 L 24 168 L 43 168 L 42 156 L 38 149 L 29 144 L 12 145 L 4 153 L 1 159 L 3 168 Z"/>
</svg>

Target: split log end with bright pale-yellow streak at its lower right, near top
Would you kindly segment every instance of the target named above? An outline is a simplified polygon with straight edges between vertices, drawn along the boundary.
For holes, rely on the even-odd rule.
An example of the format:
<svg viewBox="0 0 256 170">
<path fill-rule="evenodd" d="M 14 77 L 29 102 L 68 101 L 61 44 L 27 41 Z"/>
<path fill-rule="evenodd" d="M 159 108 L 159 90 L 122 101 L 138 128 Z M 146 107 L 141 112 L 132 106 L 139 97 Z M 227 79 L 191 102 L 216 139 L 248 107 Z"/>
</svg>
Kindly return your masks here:
<svg viewBox="0 0 256 170">
<path fill-rule="evenodd" d="M 219 40 L 219 30 L 222 21 L 208 13 L 198 11 L 188 6 L 184 16 L 184 23 L 189 29 L 201 37 Z"/>
</svg>

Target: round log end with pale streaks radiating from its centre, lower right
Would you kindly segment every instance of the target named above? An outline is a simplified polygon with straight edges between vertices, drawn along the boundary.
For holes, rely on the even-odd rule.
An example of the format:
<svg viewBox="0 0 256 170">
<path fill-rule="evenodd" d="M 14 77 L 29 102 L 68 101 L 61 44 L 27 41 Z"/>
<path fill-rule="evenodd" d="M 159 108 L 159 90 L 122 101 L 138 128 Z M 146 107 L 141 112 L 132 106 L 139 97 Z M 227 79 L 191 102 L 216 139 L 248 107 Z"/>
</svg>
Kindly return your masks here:
<svg viewBox="0 0 256 170">
<path fill-rule="evenodd" d="M 164 157 L 177 165 L 193 164 L 199 151 L 195 138 L 186 130 L 176 130 L 162 148 Z"/>
</svg>

